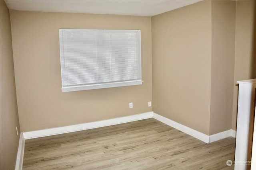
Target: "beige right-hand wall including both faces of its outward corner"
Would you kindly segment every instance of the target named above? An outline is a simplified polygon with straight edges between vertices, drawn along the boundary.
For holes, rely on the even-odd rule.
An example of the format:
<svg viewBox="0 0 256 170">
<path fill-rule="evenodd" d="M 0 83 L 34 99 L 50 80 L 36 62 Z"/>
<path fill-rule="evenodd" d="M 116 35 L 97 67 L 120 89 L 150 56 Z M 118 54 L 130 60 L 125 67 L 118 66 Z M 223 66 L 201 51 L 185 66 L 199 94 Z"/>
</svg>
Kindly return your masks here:
<svg viewBox="0 0 256 170">
<path fill-rule="evenodd" d="M 232 128 L 235 1 L 152 17 L 153 111 L 213 135 Z"/>
</svg>

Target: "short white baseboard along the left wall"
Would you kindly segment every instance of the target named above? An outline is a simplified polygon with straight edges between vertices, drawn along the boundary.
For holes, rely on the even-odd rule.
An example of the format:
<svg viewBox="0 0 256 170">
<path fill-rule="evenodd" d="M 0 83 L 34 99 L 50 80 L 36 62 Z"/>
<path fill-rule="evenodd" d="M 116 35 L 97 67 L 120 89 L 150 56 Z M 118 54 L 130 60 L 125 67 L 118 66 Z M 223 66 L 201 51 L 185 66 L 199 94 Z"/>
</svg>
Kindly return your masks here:
<svg viewBox="0 0 256 170">
<path fill-rule="evenodd" d="M 20 133 L 20 141 L 19 141 L 18 153 L 16 158 L 15 170 L 22 170 L 24 148 L 25 148 L 25 139 L 24 139 L 23 133 Z"/>
</svg>

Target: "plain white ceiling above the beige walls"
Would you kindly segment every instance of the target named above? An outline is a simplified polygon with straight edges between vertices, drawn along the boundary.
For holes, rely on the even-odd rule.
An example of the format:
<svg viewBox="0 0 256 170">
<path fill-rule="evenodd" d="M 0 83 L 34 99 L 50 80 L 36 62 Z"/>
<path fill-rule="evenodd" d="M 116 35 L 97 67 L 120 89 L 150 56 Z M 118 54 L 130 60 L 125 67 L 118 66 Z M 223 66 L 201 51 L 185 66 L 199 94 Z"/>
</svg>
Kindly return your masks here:
<svg viewBox="0 0 256 170">
<path fill-rule="evenodd" d="M 200 0 L 5 0 L 10 10 L 155 16 Z"/>
</svg>

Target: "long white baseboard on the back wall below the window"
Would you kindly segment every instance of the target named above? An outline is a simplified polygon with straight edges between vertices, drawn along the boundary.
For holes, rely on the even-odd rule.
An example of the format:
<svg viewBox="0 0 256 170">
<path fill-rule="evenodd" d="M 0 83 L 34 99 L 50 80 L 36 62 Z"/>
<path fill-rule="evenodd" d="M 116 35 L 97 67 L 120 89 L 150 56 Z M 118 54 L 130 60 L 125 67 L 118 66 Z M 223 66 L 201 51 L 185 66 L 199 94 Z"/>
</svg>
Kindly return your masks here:
<svg viewBox="0 0 256 170">
<path fill-rule="evenodd" d="M 46 137 L 51 135 L 58 135 L 62 133 L 70 133 L 70 132 L 76 132 L 76 131 L 83 131 L 87 129 L 94 129 L 98 127 L 105 127 L 105 126 L 111 126 L 111 125 L 117 125 L 121 123 L 128 123 L 131 121 L 137 121 L 142 119 L 148 119 L 153 117 L 153 112 L 147 112 L 147 113 L 141 113 L 137 115 L 130 115 L 125 117 L 118 117 L 114 119 L 108 119 L 108 120 L 102 120 L 102 121 L 94 121 L 90 123 L 82 123 L 77 125 L 70 125 L 70 126 L 64 126 L 64 127 L 55 127 L 50 129 L 42 129 L 38 131 L 30 131 L 30 132 L 24 132 L 24 139 L 32 139 L 37 137 Z"/>
</svg>

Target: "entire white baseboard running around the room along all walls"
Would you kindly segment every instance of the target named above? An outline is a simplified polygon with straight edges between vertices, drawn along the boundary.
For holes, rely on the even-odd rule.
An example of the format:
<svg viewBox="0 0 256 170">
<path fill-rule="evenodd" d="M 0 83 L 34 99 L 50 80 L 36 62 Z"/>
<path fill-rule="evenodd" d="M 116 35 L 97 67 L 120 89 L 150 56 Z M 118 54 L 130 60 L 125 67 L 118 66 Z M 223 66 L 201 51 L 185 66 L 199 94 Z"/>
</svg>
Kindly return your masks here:
<svg viewBox="0 0 256 170">
<path fill-rule="evenodd" d="M 117 125 L 117 124 L 121 124 L 121 123 L 128 123 L 131 121 L 137 121 L 137 120 L 148 119 L 148 118 L 154 118 L 158 121 L 161 121 L 162 123 L 165 123 L 166 125 L 174 127 L 175 129 L 178 129 L 178 130 L 180 130 L 192 137 L 195 137 L 205 143 L 211 143 L 211 142 L 218 141 L 220 139 L 224 139 L 224 138 L 230 137 L 230 136 L 236 137 L 236 131 L 234 131 L 232 129 L 209 136 L 209 135 L 206 135 L 204 133 L 201 133 L 199 131 L 191 129 L 190 127 L 186 127 L 180 123 L 172 121 L 166 117 L 163 117 L 163 116 L 158 115 L 157 113 L 154 113 L 153 111 L 151 111 L 151 112 L 141 113 L 141 114 L 137 114 L 137 115 L 118 117 L 118 118 L 114 118 L 114 119 L 108 119 L 108 120 L 95 121 L 95 122 L 90 122 L 90 123 L 82 123 L 82 124 L 78 124 L 78 125 L 70 125 L 70 126 L 64 126 L 64 127 L 56 127 L 56 128 L 42 129 L 42 130 L 38 130 L 38 131 L 30 131 L 30 132 L 20 133 L 20 141 L 19 141 L 15 170 L 22 170 L 24 147 L 25 147 L 26 139 L 46 137 L 46 136 L 58 135 L 58 134 L 62 134 L 62 133 L 70 133 L 70 132 L 76 132 L 76 131 L 83 131 L 83 130 L 87 130 L 87 129 L 94 129 L 94 128 L 98 128 L 98 127 Z"/>
</svg>

